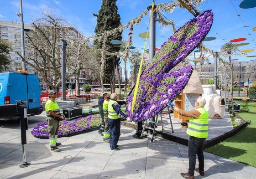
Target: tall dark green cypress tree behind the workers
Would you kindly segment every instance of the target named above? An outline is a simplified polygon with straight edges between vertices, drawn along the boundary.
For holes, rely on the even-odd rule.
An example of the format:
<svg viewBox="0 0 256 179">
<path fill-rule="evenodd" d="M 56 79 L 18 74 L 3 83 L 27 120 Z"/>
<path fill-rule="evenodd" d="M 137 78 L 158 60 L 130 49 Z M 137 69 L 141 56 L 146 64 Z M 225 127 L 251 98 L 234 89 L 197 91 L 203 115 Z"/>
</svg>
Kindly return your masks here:
<svg viewBox="0 0 256 179">
<path fill-rule="evenodd" d="M 95 33 L 103 34 L 105 31 L 113 30 L 120 26 L 120 15 L 118 14 L 118 7 L 115 4 L 116 0 L 102 0 L 102 5 L 98 14 L 93 14 L 97 17 L 97 25 L 95 27 Z M 122 40 L 122 32 L 116 32 L 113 35 L 108 36 L 107 49 L 109 52 L 116 52 L 120 50 L 119 45 L 113 45 L 110 43 L 112 40 Z M 97 49 L 102 48 L 102 40 L 95 40 L 94 45 Z M 105 82 L 110 82 L 111 92 L 115 92 L 115 65 L 120 59 L 117 56 L 107 56 L 105 66 Z M 114 79 L 113 79 L 114 77 Z"/>
</svg>

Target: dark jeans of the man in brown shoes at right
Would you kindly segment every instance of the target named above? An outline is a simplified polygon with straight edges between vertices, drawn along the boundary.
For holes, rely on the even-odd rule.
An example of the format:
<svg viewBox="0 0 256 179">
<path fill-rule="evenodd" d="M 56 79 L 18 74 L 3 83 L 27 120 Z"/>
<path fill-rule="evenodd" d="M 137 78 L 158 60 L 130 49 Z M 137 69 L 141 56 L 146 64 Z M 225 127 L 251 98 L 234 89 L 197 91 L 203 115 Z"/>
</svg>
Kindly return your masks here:
<svg viewBox="0 0 256 179">
<path fill-rule="evenodd" d="M 196 166 L 196 154 L 198 156 L 199 170 L 204 171 L 204 141 L 206 138 L 196 138 L 189 136 L 188 140 L 188 159 L 189 168 L 188 173 L 193 175 Z"/>
</svg>

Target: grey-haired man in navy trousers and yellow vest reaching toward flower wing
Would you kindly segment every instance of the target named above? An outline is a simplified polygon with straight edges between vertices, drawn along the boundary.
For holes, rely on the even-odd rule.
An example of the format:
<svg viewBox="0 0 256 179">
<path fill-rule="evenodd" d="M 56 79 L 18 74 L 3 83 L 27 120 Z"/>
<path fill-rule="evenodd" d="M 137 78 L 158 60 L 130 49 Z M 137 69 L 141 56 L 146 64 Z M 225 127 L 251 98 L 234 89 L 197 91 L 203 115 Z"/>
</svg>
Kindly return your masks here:
<svg viewBox="0 0 256 179">
<path fill-rule="evenodd" d="M 120 150 L 117 145 L 120 136 L 121 118 L 131 121 L 131 119 L 122 112 L 120 105 L 125 104 L 125 101 L 117 101 L 117 95 L 112 93 L 108 105 L 108 124 L 110 131 L 110 149 Z"/>
</svg>

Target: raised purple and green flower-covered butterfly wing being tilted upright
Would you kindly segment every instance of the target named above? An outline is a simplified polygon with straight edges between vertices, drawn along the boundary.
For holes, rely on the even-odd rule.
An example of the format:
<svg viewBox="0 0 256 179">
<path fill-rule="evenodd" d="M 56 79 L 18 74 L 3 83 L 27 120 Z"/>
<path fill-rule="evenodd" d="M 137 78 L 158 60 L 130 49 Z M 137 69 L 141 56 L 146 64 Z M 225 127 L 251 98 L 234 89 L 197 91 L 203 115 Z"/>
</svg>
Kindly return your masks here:
<svg viewBox="0 0 256 179">
<path fill-rule="evenodd" d="M 212 23 L 213 13 L 207 10 L 188 21 L 163 43 L 160 51 L 141 75 L 132 114 L 133 93 L 128 97 L 126 113 L 133 121 L 146 120 L 157 115 L 166 107 L 168 101 L 172 101 L 183 91 L 193 72 L 192 66 L 172 72 L 170 70 L 204 40 Z"/>
</svg>

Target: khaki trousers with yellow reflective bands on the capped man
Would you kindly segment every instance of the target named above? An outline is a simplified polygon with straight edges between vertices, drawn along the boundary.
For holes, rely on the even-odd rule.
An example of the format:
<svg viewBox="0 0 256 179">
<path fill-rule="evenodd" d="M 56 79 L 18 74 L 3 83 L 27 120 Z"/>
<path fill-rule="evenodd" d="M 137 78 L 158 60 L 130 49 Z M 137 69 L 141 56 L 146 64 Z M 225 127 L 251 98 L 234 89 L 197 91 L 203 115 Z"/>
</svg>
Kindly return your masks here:
<svg viewBox="0 0 256 179">
<path fill-rule="evenodd" d="M 50 139 L 50 147 L 56 147 L 56 141 L 58 137 L 59 131 L 59 121 L 55 118 L 46 118 L 48 124 L 48 131 L 49 131 L 49 139 Z"/>
</svg>

